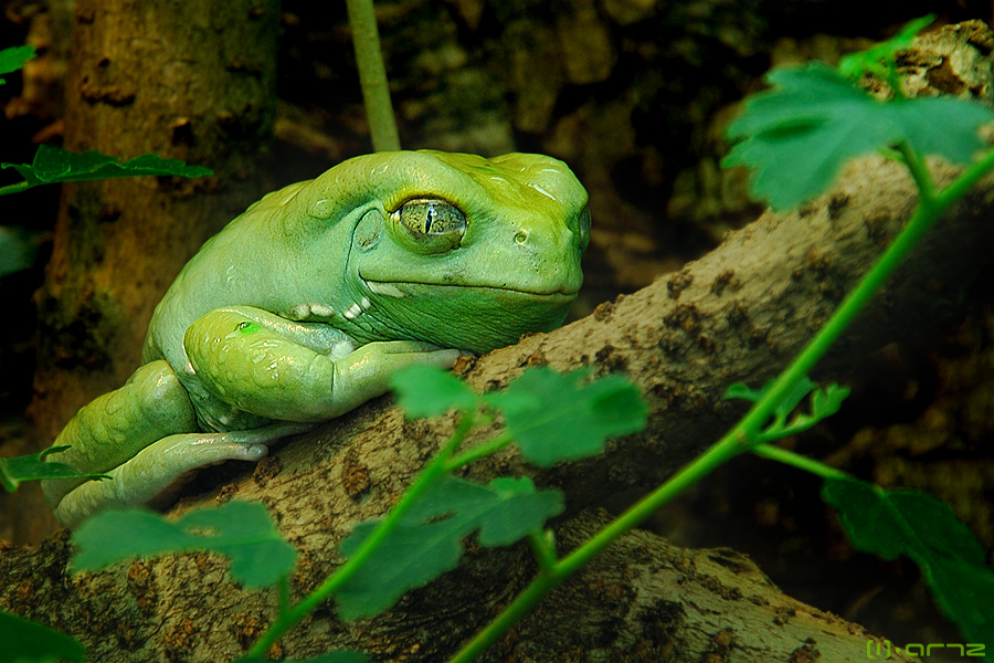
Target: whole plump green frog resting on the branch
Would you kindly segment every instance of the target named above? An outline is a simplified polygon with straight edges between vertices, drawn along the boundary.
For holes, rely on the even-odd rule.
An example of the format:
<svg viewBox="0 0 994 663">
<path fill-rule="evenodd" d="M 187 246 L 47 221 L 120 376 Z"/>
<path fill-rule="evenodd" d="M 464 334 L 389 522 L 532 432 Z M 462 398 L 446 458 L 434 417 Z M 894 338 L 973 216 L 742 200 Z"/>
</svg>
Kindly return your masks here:
<svg viewBox="0 0 994 663">
<path fill-rule="evenodd" d="M 142 366 L 81 409 L 53 460 L 113 481 L 44 482 L 72 527 L 154 502 L 190 471 L 562 324 L 582 282 L 586 191 L 561 161 L 357 157 L 269 193 L 209 240 L 151 319 Z"/>
</svg>

